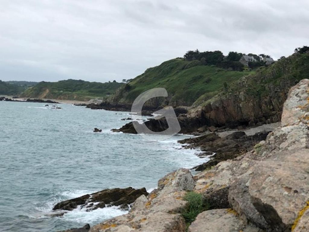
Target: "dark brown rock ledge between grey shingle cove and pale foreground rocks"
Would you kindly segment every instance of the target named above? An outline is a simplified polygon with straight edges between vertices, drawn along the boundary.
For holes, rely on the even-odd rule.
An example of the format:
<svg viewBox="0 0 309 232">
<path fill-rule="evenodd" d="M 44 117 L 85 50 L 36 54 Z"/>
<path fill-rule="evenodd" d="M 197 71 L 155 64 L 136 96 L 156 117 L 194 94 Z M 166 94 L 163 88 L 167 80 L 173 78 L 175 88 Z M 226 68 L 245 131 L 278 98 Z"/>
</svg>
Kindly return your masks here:
<svg viewBox="0 0 309 232">
<path fill-rule="evenodd" d="M 257 133 L 247 136 L 243 131 L 234 132 L 231 135 L 220 138 L 215 132 L 196 138 L 178 141 L 181 144 L 190 144 L 185 148 L 201 148 L 203 152 L 215 153 L 210 161 L 194 167 L 196 171 L 209 169 L 221 161 L 234 159 L 241 154 L 252 150 L 261 140 L 265 140 L 269 132 Z"/>
</svg>

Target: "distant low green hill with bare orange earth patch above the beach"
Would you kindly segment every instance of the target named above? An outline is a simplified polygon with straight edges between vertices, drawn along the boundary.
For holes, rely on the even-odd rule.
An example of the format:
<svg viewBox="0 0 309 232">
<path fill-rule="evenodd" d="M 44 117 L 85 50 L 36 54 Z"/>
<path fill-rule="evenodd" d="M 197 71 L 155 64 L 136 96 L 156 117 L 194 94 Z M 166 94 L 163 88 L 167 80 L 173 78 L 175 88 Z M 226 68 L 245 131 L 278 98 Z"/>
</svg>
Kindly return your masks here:
<svg viewBox="0 0 309 232">
<path fill-rule="evenodd" d="M 99 83 L 72 79 L 58 82 L 43 81 L 28 88 L 21 97 L 87 101 L 92 98 L 105 98 L 122 85 L 117 82 Z"/>
</svg>

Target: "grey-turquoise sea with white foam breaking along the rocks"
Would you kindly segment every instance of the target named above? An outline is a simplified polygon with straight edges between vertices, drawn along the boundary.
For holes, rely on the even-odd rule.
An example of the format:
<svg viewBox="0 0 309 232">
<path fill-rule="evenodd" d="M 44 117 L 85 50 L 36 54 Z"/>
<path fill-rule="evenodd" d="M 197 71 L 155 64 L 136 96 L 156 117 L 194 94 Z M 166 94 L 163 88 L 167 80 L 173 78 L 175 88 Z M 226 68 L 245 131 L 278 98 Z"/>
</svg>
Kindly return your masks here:
<svg viewBox="0 0 309 232">
<path fill-rule="evenodd" d="M 0 231 L 53 232 L 91 225 L 125 211 L 116 207 L 50 217 L 61 200 L 113 187 L 151 190 L 159 178 L 204 160 L 180 149 L 176 135 L 150 142 L 113 133 L 129 113 L 0 101 Z M 51 105 L 50 105 L 51 106 Z M 103 129 L 94 133 L 93 128 Z"/>
</svg>

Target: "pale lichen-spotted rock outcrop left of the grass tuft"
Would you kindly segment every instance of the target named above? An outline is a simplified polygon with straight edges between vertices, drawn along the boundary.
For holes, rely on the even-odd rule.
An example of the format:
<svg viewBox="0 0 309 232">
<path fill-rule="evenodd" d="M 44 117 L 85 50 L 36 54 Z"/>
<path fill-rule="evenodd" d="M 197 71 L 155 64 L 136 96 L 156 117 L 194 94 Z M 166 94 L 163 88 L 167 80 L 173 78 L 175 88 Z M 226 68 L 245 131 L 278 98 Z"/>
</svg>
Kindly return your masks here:
<svg viewBox="0 0 309 232">
<path fill-rule="evenodd" d="M 194 180 L 189 170 L 180 169 L 167 174 L 159 180 L 158 189 L 134 202 L 128 214 L 93 226 L 90 232 L 185 232 L 186 224 L 180 212 L 186 205 L 184 194 L 193 187 Z"/>
</svg>

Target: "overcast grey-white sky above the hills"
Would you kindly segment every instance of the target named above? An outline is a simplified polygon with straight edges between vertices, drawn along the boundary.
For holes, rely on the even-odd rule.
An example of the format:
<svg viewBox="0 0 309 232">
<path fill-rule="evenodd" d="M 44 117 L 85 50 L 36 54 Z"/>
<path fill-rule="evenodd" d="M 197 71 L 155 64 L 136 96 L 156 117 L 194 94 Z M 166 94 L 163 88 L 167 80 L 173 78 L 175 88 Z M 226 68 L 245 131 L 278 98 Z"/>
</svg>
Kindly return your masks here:
<svg viewBox="0 0 309 232">
<path fill-rule="evenodd" d="M 188 50 L 288 56 L 307 0 L 1 0 L 0 79 L 131 79 Z"/>
</svg>

